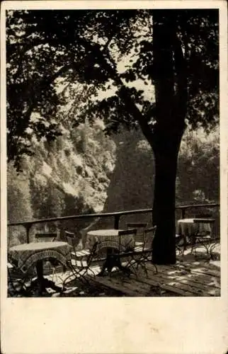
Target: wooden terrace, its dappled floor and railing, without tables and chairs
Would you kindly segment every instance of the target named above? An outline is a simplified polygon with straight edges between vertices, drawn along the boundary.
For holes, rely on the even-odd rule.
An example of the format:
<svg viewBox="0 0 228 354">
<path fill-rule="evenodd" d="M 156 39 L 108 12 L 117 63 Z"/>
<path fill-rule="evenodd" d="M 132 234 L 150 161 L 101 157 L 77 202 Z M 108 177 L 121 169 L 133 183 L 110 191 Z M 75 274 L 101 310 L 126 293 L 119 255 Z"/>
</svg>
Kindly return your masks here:
<svg viewBox="0 0 228 354">
<path fill-rule="evenodd" d="M 44 265 L 42 270 L 42 275 L 45 276 L 46 280 L 50 282 L 55 282 L 55 286 L 58 291 L 47 286 L 47 291 L 42 292 L 42 295 L 38 295 L 37 292 L 30 292 L 30 295 L 25 295 L 22 291 L 21 294 L 18 293 L 16 296 L 42 296 L 42 297 L 211 297 L 220 296 L 220 236 L 219 235 L 219 211 L 217 210 L 220 205 L 210 204 L 210 205 L 183 205 L 176 207 L 177 224 L 178 217 L 181 219 L 186 219 L 186 217 L 193 217 L 193 214 L 203 212 L 205 210 L 212 211 L 210 217 L 213 221 L 213 232 L 212 235 L 207 237 L 203 242 L 199 242 L 194 250 L 192 244 L 183 243 L 177 247 L 177 262 L 175 265 L 156 265 L 157 272 L 154 271 L 154 265 L 149 261 L 142 264 L 140 263 L 137 268 L 137 272 L 131 272 L 130 276 L 128 274 L 122 273 L 118 270 L 118 267 L 113 266 L 113 271 L 108 275 L 99 274 L 101 266 L 103 265 L 106 256 L 94 256 L 91 258 L 91 263 L 86 268 L 83 273 L 72 274 L 72 269 L 64 267 L 62 265 L 55 264 L 55 272 L 52 268 L 48 268 L 48 265 Z M 57 222 L 57 227 L 66 220 L 74 219 L 78 222 L 79 219 L 94 219 L 99 218 L 100 220 L 105 218 L 113 220 L 114 229 L 118 232 L 127 221 L 132 218 L 141 220 L 147 219 L 149 223 L 151 219 L 152 210 L 131 210 L 123 212 L 113 212 L 113 213 L 103 213 L 96 215 L 74 215 L 70 217 L 59 217 L 52 219 L 42 219 L 35 220 L 31 222 L 20 222 L 14 224 L 8 224 L 8 227 L 24 227 L 26 230 L 27 244 L 33 241 L 33 234 L 35 232 L 35 224 L 46 224 Z M 112 226 L 113 227 L 113 226 Z M 96 224 L 93 224 L 93 230 L 96 230 Z M 178 229 L 178 228 L 177 228 Z M 104 227 L 107 231 L 107 227 Z M 89 229 L 86 230 L 88 235 Z M 68 235 L 69 234 L 69 235 Z M 47 236 L 47 235 L 46 235 Z M 49 236 L 53 234 L 49 233 Z M 72 237 L 70 232 L 67 233 L 64 241 L 68 241 L 68 246 L 70 244 L 69 240 Z M 73 238 L 74 239 L 74 238 Z M 62 240 L 61 240 L 62 241 Z M 59 242 L 59 241 L 58 241 Z M 42 242 L 42 244 L 44 244 Z M 47 242 L 50 245 L 50 242 Z M 52 242 L 50 246 L 57 245 L 57 241 Z M 65 242 L 64 244 L 67 244 Z M 26 244 L 25 244 L 26 247 Z M 66 246 L 65 246 L 66 247 Z M 82 250 L 81 252 L 83 252 Z M 47 253 L 47 250 L 46 250 Z M 80 252 L 76 251 L 79 255 Z M 142 250 L 142 253 L 147 253 L 147 250 Z M 43 253 L 45 254 L 45 253 Z M 53 256 L 54 253 L 52 253 Z M 141 255 L 141 253 L 140 253 Z M 47 253 L 48 256 L 48 253 Z M 50 256 L 50 255 L 49 255 Z M 54 254 L 55 256 L 55 254 Z M 86 259 L 86 254 L 82 254 L 79 258 L 76 258 L 76 262 L 80 261 L 81 264 Z M 151 255 L 149 255 L 151 256 Z M 137 260 L 137 254 L 134 258 Z M 123 266 L 129 265 L 132 258 L 129 258 L 129 253 L 122 252 L 120 254 L 121 263 Z M 35 259 L 35 258 L 34 258 Z M 58 259 L 58 258 L 57 258 Z M 129 261 L 130 259 L 130 261 Z M 34 260 L 33 260 L 34 261 Z M 36 260 L 37 261 L 37 260 Z M 48 259 L 47 259 L 48 261 Z M 35 261 L 34 261 L 35 262 Z M 39 272 L 38 261 L 33 262 L 33 268 L 36 268 L 36 273 Z M 48 263 L 48 262 L 47 262 Z M 60 263 L 64 263 L 60 262 Z M 35 265 L 34 265 L 35 264 Z M 80 268 L 80 265 L 78 265 Z M 26 273 L 26 272 L 25 272 Z M 28 272 L 29 273 L 29 272 Z M 80 275 L 80 276 L 79 276 Z M 82 276 L 81 276 L 82 275 Z M 99 276 L 98 276 L 99 275 Z M 19 276 L 18 276 L 19 277 Z M 19 277 L 20 278 L 20 277 Z M 34 272 L 30 278 L 34 278 Z M 62 289 L 62 284 L 69 278 L 64 286 L 64 291 Z M 27 281 L 27 280 L 26 280 Z M 25 282 L 26 283 L 26 282 Z M 8 296 L 14 296 L 8 293 Z"/>
</svg>

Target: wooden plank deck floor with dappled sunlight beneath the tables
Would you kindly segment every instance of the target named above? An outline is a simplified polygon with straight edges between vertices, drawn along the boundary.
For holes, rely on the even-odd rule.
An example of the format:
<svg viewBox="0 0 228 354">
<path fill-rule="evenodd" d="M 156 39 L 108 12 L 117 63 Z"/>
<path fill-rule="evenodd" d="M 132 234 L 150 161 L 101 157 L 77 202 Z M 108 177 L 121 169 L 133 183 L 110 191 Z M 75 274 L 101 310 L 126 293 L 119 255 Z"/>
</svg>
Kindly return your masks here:
<svg viewBox="0 0 228 354">
<path fill-rule="evenodd" d="M 98 273 L 100 270 L 100 266 L 97 264 L 94 264 L 92 268 L 94 273 Z M 93 292 L 90 295 L 89 289 L 85 292 L 82 289 L 81 293 L 84 292 L 84 295 L 79 295 L 78 282 L 73 280 L 64 296 L 220 296 L 220 261 L 200 260 L 188 253 L 178 258 L 175 265 L 158 265 L 157 268 L 158 273 L 155 273 L 152 263 L 148 263 L 148 276 L 142 270 L 137 274 L 137 277 L 132 274 L 130 278 L 117 271 L 114 271 L 111 277 L 108 275 L 103 277 L 86 275 L 89 284 L 92 285 L 91 288 L 100 287 L 104 291 Z"/>
</svg>

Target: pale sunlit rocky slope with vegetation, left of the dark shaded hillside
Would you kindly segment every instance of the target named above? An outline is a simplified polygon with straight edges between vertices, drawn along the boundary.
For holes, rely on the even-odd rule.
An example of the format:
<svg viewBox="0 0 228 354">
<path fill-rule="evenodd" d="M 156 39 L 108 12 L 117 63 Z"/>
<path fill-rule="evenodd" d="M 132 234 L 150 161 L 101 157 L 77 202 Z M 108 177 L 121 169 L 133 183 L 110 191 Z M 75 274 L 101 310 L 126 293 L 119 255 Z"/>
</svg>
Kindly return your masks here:
<svg viewBox="0 0 228 354">
<path fill-rule="evenodd" d="M 88 140 L 81 153 L 81 139 Z M 8 222 L 101 212 L 107 198 L 110 173 L 115 166 L 115 144 L 102 125 L 81 125 L 71 137 L 69 130 L 51 144 L 33 142 L 35 156 L 21 160 L 23 172 L 8 164 Z M 67 151 L 67 154 L 66 154 Z M 108 163 L 107 163 L 108 161 Z M 55 223 L 79 235 L 89 221 Z M 44 224 L 36 224 L 42 229 Z M 51 225 L 47 224 L 50 228 Z M 54 231 L 53 230 L 53 231 Z M 13 229 L 13 240 L 23 238 L 23 228 Z M 31 229 L 31 237 L 34 230 Z M 21 235 L 21 236 L 20 236 Z M 13 241 L 14 242 L 14 241 Z"/>
</svg>

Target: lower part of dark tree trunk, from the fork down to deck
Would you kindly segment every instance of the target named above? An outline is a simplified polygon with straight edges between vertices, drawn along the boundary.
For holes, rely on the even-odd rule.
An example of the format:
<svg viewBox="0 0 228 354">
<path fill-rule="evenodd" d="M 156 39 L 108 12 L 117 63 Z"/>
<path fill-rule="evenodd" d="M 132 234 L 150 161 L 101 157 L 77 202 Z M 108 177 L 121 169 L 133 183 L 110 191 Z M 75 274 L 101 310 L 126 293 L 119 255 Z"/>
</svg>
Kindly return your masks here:
<svg viewBox="0 0 228 354">
<path fill-rule="evenodd" d="M 157 229 L 152 262 L 156 264 L 176 263 L 176 171 L 182 135 L 183 132 L 179 135 L 164 132 L 153 144 L 156 173 L 153 224 Z M 162 144 L 158 143 L 159 140 Z"/>
</svg>

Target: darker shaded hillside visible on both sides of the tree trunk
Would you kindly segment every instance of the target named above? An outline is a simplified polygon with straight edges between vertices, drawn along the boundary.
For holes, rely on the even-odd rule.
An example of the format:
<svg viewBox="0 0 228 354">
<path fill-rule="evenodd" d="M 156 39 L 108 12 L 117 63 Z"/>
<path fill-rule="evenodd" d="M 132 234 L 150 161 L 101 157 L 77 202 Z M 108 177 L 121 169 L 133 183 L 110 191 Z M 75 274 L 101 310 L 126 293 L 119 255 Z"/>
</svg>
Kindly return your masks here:
<svg viewBox="0 0 228 354">
<path fill-rule="evenodd" d="M 153 195 L 155 171 L 154 156 L 147 140 L 139 131 L 126 130 L 113 139 L 117 145 L 116 162 L 104 211 L 151 207 L 149 198 Z M 220 194 L 219 170 L 218 127 L 209 134 L 201 128 L 186 130 L 178 154 L 176 205 L 217 202 Z M 140 219 L 142 217 L 146 221 L 147 216 L 139 215 Z"/>
</svg>

